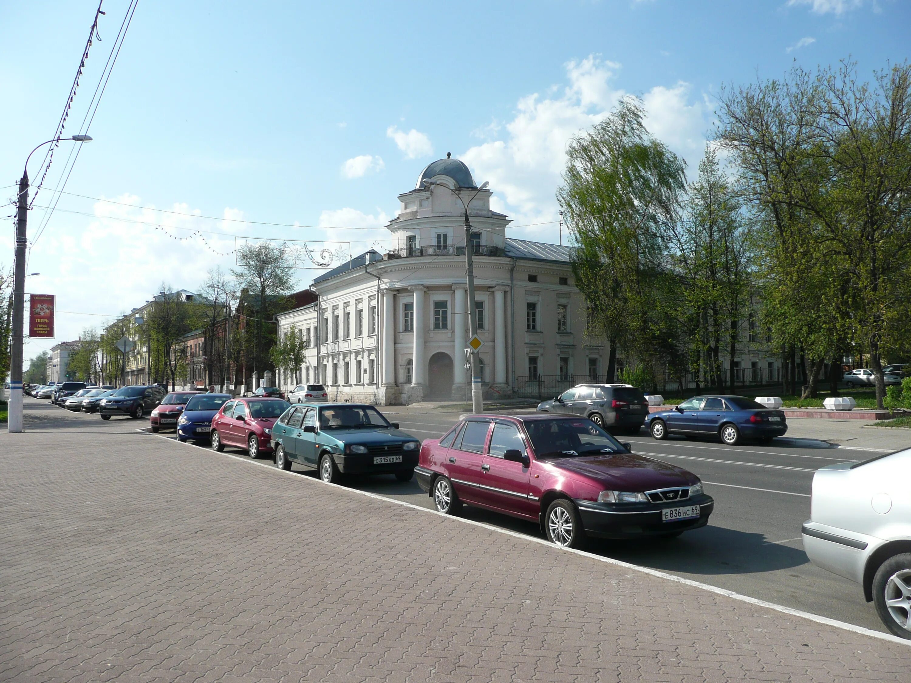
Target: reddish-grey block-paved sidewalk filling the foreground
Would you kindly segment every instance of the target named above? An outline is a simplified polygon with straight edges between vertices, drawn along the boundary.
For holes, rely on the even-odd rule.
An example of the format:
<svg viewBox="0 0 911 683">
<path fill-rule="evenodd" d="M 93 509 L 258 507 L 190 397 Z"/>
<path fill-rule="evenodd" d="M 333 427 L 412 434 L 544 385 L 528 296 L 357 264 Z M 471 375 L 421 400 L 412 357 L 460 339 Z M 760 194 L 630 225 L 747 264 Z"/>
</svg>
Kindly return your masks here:
<svg viewBox="0 0 911 683">
<path fill-rule="evenodd" d="M 911 647 L 116 424 L 0 435 L 0 680 L 911 680 Z"/>
</svg>

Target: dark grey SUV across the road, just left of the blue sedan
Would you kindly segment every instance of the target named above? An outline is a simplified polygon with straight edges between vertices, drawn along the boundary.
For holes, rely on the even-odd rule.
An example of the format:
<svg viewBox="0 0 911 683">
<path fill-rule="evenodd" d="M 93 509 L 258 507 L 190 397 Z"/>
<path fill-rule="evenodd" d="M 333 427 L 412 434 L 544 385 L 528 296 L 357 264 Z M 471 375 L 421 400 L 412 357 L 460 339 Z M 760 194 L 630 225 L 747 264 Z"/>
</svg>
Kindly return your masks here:
<svg viewBox="0 0 911 683">
<path fill-rule="evenodd" d="M 629 384 L 578 384 L 559 396 L 538 403 L 539 413 L 588 417 L 612 433 L 638 433 L 649 416 L 649 402 Z"/>
</svg>

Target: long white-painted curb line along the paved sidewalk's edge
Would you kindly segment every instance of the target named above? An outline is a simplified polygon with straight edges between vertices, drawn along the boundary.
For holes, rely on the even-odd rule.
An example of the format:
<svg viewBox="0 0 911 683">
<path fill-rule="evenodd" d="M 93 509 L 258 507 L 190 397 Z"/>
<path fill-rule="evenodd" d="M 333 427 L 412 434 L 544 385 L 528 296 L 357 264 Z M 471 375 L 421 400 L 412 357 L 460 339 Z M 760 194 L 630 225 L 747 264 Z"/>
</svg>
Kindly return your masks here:
<svg viewBox="0 0 911 683">
<path fill-rule="evenodd" d="M 709 593 L 714 593 L 716 595 L 730 597 L 733 600 L 738 600 L 739 602 L 744 602 L 749 605 L 754 605 L 756 607 L 765 607 L 766 609 L 772 609 L 776 612 L 781 612 L 782 614 L 786 614 L 791 617 L 800 617 L 800 618 L 808 619 L 809 621 L 813 621 L 816 624 L 825 624 L 826 626 L 841 628 L 844 631 L 850 631 L 851 633 L 860 634 L 861 636 L 875 637 L 880 640 L 886 640 L 890 643 L 895 643 L 896 645 L 904 645 L 906 647 L 911 647 L 911 640 L 906 640 L 905 638 L 893 636 L 890 633 L 880 633 L 879 631 L 874 631 L 870 628 L 855 626 L 854 624 L 848 624 L 847 622 L 838 621 L 837 619 L 830 619 L 829 617 L 821 617 L 820 615 L 815 615 L 810 612 L 804 612 L 803 610 L 800 610 L 800 609 L 793 609 L 793 607 L 785 607 L 783 605 L 776 605 L 773 602 L 766 602 L 765 600 L 760 600 L 759 598 L 756 598 L 756 597 L 744 596 L 741 593 L 734 593 L 733 591 L 727 590 L 725 588 L 719 588 L 718 586 L 711 586 L 710 584 L 703 584 L 703 583 L 700 583 L 699 581 L 693 581 L 690 578 L 683 578 L 682 576 L 675 576 L 673 574 L 668 574 L 667 572 L 662 572 L 658 569 L 652 569 L 651 567 L 648 567 L 648 566 L 633 565 L 630 562 L 623 562 L 622 560 L 616 560 L 613 557 L 603 557 L 603 556 L 595 555 L 594 553 L 589 553 L 584 550 L 574 550 L 572 548 L 561 548 L 558 545 L 554 545 L 554 544 L 550 543 L 550 541 L 546 541 L 543 538 L 537 538 L 535 536 L 520 534 L 516 531 L 510 531 L 508 529 L 503 529 L 503 528 L 500 528 L 495 525 L 486 524 L 485 522 L 477 522 L 474 519 L 465 519 L 464 517 L 456 517 L 454 515 L 445 515 L 443 513 L 437 512 L 436 510 L 432 510 L 427 507 L 422 507 L 421 505 L 415 505 L 414 503 L 406 503 L 403 500 L 398 500 L 396 498 L 387 498 L 384 495 L 372 494 L 367 491 L 360 491 L 356 488 L 348 488 L 347 486 L 343 486 L 341 484 L 329 484 L 328 482 L 323 482 L 322 479 L 318 479 L 315 477 L 301 476 L 301 474 L 298 474 L 295 472 L 285 472 L 284 470 L 280 470 L 272 464 L 266 464 L 266 463 L 262 463 L 260 461 L 251 460 L 249 457 L 241 457 L 241 455 L 235 455 L 235 454 L 230 454 L 230 453 L 218 453 L 216 451 L 213 451 L 210 448 L 199 449 L 196 446 L 193 446 L 189 443 L 180 443 L 179 441 L 176 441 L 175 439 L 169 439 L 167 436 L 162 436 L 160 434 L 149 434 L 149 435 L 157 436 L 157 437 L 159 437 L 159 439 L 164 439 L 165 441 L 167 441 L 169 443 L 177 443 L 179 446 L 185 446 L 187 448 L 192 448 L 197 451 L 201 450 L 205 453 L 210 453 L 213 455 L 227 455 L 228 457 L 233 458 L 234 460 L 237 460 L 241 463 L 258 465 L 260 467 L 266 467 L 275 474 L 292 476 L 292 477 L 294 477 L 295 481 L 302 482 L 303 485 L 305 485 L 305 486 L 306 485 L 333 486 L 334 488 L 340 489 L 342 491 L 347 491 L 350 494 L 365 495 L 368 498 L 375 498 L 376 500 L 385 501 L 386 503 L 392 503 L 393 505 L 403 505 L 404 507 L 410 507 L 411 509 L 415 510 L 416 512 L 423 513 L 425 515 L 437 515 L 437 516 L 443 517 L 445 520 L 448 520 L 449 522 L 454 522 L 456 524 L 461 523 L 461 524 L 466 524 L 466 525 L 480 526 L 481 528 L 487 529 L 488 531 L 492 531 L 496 534 L 512 536 L 513 538 L 517 538 L 519 540 L 526 541 L 527 543 L 536 543 L 537 545 L 544 545 L 552 552 L 575 553 L 578 556 L 588 557 L 589 559 L 595 560 L 597 562 L 603 562 L 606 565 L 621 566 L 625 569 L 637 571 L 642 574 L 647 574 L 649 576 L 655 576 L 657 578 L 662 578 L 667 581 L 673 581 L 675 583 L 682 584 L 684 586 L 692 586 L 694 588 L 701 588 L 701 590 L 708 591 Z"/>
</svg>

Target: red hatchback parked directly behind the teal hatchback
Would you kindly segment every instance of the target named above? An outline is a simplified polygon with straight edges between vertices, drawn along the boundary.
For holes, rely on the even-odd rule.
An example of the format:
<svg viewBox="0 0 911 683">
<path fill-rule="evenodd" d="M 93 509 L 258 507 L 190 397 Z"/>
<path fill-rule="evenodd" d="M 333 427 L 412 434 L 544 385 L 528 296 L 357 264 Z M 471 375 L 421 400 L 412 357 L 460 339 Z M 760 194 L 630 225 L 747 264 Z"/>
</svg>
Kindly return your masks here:
<svg viewBox="0 0 911 683">
<path fill-rule="evenodd" d="M 291 407 L 277 398 L 245 398 L 229 401 L 212 418 L 212 450 L 225 446 L 244 448 L 251 458 L 272 452 L 272 425 Z"/>
</svg>

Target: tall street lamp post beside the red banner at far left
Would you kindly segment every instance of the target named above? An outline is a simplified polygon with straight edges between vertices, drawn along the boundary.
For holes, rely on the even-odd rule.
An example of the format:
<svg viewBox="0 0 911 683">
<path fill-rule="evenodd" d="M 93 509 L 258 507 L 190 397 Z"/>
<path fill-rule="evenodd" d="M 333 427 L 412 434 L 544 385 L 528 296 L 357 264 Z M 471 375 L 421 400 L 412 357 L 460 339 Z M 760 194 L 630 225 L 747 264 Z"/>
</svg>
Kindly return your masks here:
<svg viewBox="0 0 911 683">
<path fill-rule="evenodd" d="M 9 416 L 6 422 L 8 433 L 22 432 L 22 352 L 26 311 L 26 227 L 28 223 L 28 159 L 32 158 L 38 148 L 60 140 L 88 142 L 87 135 L 74 135 L 72 138 L 54 138 L 42 142 L 28 153 L 26 166 L 19 180 L 19 193 L 16 195 L 15 220 L 15 269 L 13 276 L 13 343 L 10 350 L 9 372 Z"/>
</svg>

